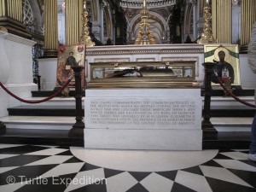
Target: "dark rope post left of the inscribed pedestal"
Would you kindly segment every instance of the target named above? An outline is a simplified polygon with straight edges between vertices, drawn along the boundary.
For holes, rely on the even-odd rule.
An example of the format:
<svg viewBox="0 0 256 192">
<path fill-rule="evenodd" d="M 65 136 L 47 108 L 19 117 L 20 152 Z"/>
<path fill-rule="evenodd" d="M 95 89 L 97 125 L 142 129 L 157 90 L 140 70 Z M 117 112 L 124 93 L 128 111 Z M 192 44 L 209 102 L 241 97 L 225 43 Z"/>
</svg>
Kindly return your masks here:
<svg viewBox="0 0 256 192">
<path fill-rule="evenodd" d="M 82 108 L 82 87 L 81 87 L 81 73 L 84 70 L 82 66 L 72 67 L 75 73 L 75 99 L 76 99 L 76 123 L 68 132 L 70 137 L 84 137 L 84 122 L 83 122 L 83 108 Z"/>
</svg>

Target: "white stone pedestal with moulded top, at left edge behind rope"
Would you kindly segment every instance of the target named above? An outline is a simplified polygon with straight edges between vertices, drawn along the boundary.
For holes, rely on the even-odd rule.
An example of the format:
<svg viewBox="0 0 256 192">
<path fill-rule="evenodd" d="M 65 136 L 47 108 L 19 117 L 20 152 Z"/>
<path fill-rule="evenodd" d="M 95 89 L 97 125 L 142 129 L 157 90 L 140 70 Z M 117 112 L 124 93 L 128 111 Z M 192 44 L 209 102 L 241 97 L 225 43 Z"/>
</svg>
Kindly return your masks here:
<svg viewBox="0 0 256 192">
<path fill-rule="evenodd" d="M 32 46 L 36 42 L 0 31 L 0 81 L 16 96 L 26 98 L 37 89 L 32 79 Z M 0 88 L 0 117 L 8 115 L 7 108 L 20 105 Z"/>
</svg>

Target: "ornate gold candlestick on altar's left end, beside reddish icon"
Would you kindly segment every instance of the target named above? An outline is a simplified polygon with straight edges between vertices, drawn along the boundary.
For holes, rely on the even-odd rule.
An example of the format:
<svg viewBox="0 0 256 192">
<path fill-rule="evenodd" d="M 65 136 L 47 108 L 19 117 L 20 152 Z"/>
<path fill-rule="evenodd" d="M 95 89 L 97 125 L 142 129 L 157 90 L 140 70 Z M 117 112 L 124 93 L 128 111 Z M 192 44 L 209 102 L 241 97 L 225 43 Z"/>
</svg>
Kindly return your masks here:
<svg viewBox="0 0 256 192">
<path fill-rule="evenodd" d="M 82 27 L 82 35 L 80 37 L 80 44 L 86 44 L 86 46 L 88 47 L 92 47 L 95 45 L 94 42 L 91 41 L 90 35 L 89 35 L 89 28 L 87 26 L 87 19 L 88 16 L 88 12 L 86 9 L 86 0 L 84 0 L 84 4 L 83 4 L 83 13 L 82 13 L 82 21 L 83 21 L 83 27 Z"/>
</svg>

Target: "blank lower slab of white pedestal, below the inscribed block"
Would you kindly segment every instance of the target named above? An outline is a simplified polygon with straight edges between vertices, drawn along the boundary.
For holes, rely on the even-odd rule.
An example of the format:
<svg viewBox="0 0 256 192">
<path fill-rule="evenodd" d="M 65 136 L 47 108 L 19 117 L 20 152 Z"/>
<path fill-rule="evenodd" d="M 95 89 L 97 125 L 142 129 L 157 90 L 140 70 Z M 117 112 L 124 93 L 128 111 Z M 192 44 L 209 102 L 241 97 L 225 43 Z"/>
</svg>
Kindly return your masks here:
<svg viewBox="0 0 256 192">
<path fill-rule="evenodd" d="M 201 130 L 84 129 L 84 148 L 201 150 Z"/>
</svg>

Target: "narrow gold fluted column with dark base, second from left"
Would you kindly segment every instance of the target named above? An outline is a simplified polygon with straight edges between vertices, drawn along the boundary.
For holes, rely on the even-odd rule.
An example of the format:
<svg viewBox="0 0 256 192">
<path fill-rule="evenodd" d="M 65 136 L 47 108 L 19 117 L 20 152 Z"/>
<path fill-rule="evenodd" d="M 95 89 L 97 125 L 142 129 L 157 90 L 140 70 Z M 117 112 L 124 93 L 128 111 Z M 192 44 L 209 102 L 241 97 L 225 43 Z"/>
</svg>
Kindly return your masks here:
<svg viewBox="0 0 256 192">
<path fill-rule="evenodd" d="M 57 57 L 58 49 L 57 0 L 44 1 L 44 57 Z"/>
</svg>

